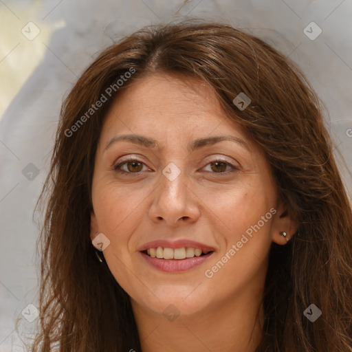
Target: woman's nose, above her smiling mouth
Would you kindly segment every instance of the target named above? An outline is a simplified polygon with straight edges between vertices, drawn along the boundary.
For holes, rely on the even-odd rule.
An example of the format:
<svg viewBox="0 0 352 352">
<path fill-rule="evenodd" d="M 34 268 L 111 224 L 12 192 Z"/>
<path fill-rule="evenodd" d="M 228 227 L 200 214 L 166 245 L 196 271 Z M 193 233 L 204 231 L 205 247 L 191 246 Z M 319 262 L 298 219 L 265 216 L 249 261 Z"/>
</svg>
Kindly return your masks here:
<svg viewBox="0 0 352 352">
<path fill-rule="evenodd" d="M 194 223 L 199 219 L 199 198 L 191 190 L 190 180 L 180 173 L 172 181 L 160 175 L 159 186 L 153 192 L 154 199 L 149 208 L 149 217 L 155 223 L 177 226 Z"/>
</svg>

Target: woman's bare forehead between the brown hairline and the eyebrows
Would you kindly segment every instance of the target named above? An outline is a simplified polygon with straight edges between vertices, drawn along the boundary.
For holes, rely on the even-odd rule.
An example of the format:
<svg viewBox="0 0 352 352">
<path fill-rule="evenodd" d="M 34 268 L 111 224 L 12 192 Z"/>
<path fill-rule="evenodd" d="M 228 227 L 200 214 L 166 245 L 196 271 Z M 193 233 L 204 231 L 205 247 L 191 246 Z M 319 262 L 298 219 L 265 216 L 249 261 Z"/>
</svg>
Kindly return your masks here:
<svg viewBox="0 0 352 352">
<path fill-rule="evenodd" d="M 152 126 L 151 126 L 152 124 Z M 136 80 L 115 98 L 103 131 L 129 133 L 153 131 L 198 131 L 210 134 L 229 129 L 245 134 L 223 111 L 212 88 L 199 78 L 155 74 Z"/>
</svg>

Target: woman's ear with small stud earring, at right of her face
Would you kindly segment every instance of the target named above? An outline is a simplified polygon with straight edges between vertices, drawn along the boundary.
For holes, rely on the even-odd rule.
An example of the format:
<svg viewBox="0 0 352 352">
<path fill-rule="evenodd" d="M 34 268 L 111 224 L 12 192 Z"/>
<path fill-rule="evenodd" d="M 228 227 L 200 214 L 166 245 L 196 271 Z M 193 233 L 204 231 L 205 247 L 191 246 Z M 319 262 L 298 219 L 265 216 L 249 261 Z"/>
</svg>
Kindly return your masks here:
<svg viewBox="0 0 352 352">
<path fill-rule="evenodd" d="M 272 222 L 272 241 L 278 245 L 285 245 L 287 240 L 292 239 L 292 236 L 296 233 L 298 225 L 294 219 L 289 215 L 287 207 L 282 201 L 279 201 L 278 207 L 276 208 L 276 214 L 274 214 Z M 283 236 L 280 232 L 286 232 L 287 236 Z"/>
</svg>

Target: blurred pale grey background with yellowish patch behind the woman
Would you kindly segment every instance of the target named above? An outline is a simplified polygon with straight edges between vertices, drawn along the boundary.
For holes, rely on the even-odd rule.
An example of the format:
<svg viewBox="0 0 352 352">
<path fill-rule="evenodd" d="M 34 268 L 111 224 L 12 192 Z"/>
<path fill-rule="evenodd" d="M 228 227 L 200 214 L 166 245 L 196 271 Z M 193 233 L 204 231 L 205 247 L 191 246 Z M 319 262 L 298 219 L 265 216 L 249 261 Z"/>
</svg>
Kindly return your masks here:
<svg viewBox="0 0 352 352">
<path fill-rule="evenodd" d="M 184 17 L 230 23 L 298 63 L 327 106 L 351 194 L 351 0 L 0 0 L 1 352 L 25 351 L 39 316 L 32 216 L 63 99 L 113 40 Z"/>
</svg>

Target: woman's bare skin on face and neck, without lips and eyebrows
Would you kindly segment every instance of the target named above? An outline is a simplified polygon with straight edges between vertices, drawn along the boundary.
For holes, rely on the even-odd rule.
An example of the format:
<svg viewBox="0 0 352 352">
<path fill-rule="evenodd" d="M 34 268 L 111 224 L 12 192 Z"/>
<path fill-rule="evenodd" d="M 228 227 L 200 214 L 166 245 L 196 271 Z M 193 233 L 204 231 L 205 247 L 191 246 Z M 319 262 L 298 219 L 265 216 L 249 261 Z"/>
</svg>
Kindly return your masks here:
<svg viewBox="0 0 352 352">
<path fill-rule="evenodd" d="M 104 150 L 115 135 L 131 133 L 154 138 L 162 150 L 129 141 Z M 222 141 L 188 151 L 190 141 L 214 135 L 241 138 L 248 148 Z M 125 173 L 114 170 L 126 156 L 143 164 L 124 164 Z M 219 159 L 236 168 L 214 165 Z M 173 181 L 162 173 L 170 162 L 181 171 Z M 225 115 L 206 83 L 158 74 L 123 91 L 104 121 L 92 197 L 91 239 L 102 232 L 110 241 L 103 254 L 131 297 L 142 351 L 255 350 L 268 251 L 273 241 L 285 245 L 279 232 L 291 237 L 296 225 L 277 197 L 263 152 Z M 206 277 L 205 271 L 271 208 L 276 214 Z M 188 272 L 160 272 L 138 251 L 156 239 L 191 239 L 215 252 Z M 169 305 L 179 312 L 173 321 L 163 314 Z"/>
</svg>

